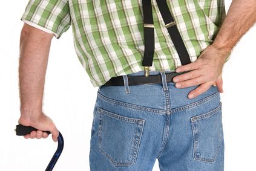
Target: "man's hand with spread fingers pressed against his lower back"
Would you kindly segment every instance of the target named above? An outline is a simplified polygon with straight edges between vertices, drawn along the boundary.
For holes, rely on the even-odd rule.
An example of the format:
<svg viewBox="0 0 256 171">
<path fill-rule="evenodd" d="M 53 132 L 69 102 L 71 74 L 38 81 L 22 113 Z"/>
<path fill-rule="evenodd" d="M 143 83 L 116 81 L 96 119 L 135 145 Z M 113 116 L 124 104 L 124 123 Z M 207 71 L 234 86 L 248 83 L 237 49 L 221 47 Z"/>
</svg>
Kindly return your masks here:
<svg viewBox="0 0 256 171">
<path fill-rule="evenodd" d="M 189 71 L 174 77 L 173 81 L 176 82 L 176 88 L 200 85 L 189 92 L 189 98 L 197 97 L 212 85 L 216 85 L 218 91 L 223 92 L 222 68 L 229 53 L 229 51 L 218 50 L 213 45 L 209 45 L 202 51 L 197 60 L 176 68 L 177 73 Z"/>
</svg>

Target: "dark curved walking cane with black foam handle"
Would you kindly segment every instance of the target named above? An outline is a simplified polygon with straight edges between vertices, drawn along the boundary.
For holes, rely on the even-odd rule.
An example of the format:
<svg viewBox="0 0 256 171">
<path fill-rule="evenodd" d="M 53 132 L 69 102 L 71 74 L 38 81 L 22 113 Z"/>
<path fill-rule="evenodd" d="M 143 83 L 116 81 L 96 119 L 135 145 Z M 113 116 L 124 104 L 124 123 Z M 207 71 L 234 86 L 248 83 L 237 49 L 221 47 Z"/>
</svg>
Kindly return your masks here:
<svg viewBox="0 0 256 171">
<path fill-rule="evenodd" d="M 16 126 L 15 131 L 16 131 L 16 135 L 23 136 L 23 135 L 30 134 L 30 132 L 32 132 L 32 131 L 38 131 L 38 129 L 36 129 L 34 127 L 31 127 L 31 126 L 23 126 L 21 124 L 18 124 Z M 51 134 L 50 131 L 45 131 L 45 132 L 47 132 L 47 134 Z M 61 152 L 62 152 L 63 147 L 64 147 L 64 139 L 63 139 L 63 137 L 61 135 L 61 132 L 59 132 L 59 137 L 57 137 L 57 142 L 58 142 L 57 150 L 54 153 L 53 157 L 51 158 L 51 161 L 48 164 L 48 166 L 45 169 L 45 171 L 53 170 L 53 167 L 57 163 L 57 160 L 59 159 L 59 156 L 61 156 Z"/>
</svg>

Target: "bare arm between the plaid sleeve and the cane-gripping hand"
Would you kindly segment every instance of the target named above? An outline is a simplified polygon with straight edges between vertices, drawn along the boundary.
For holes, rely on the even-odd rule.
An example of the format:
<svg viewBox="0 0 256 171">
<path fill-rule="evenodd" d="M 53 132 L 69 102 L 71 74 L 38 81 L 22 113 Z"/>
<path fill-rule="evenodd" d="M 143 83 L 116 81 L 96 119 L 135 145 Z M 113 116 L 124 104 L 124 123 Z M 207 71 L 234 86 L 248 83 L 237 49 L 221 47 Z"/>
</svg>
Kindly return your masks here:
<svg viewBox="0 0 256 171">
<path fill-rule="evenodd" d="M 53 35 L 24 25 L 20 39 L 19 96 L 21 116 L 42 113 L 45 73 Z"/>
</svg>

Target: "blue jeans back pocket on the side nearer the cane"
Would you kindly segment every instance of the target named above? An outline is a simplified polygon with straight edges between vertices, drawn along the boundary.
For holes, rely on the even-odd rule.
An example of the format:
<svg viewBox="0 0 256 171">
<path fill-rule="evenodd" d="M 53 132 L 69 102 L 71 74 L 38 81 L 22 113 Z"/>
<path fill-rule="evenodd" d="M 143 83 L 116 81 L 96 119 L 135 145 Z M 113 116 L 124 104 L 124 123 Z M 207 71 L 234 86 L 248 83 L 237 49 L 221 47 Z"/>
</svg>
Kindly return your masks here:
<svg viewBox="0 0 256 171">
<path fill-rule="evenodd" d="M 97 109 L 100 151 L 116 166 L 136 163 L 145 120 Z"/>
</svg>

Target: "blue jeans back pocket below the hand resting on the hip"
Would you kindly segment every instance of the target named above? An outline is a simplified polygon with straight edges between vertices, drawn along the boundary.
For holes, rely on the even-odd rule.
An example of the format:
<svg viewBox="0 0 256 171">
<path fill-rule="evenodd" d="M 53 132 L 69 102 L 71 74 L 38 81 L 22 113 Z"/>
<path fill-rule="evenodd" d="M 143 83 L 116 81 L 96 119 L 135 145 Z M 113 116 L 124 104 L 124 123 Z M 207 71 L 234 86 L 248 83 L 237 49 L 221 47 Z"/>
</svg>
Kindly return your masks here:
<svg viewBox="0 0 256 171">
<path fill-rule="evenodd" d="M 222 102 L 212 111 L 192 117 L 191 125 L 194 159 L 213 163 L 223 138 Z"/>
</svg>

